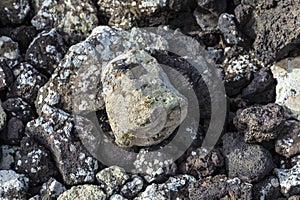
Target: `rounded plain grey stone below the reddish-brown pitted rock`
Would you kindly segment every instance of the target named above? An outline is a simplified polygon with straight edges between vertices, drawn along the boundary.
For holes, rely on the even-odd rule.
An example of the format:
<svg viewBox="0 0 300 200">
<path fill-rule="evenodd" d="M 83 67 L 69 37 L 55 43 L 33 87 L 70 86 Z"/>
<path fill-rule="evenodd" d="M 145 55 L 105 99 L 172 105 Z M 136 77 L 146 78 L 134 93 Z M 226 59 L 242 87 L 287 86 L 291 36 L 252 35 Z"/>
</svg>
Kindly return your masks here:
<svg viewBox="0 0 300 200">
<path fill-rule="evenodd" d="M 259 181 L 274 168 L 270 152 L 260 145 L 243 142 L 239 133 L 226 133 L 222 139 L 228 177 Z"/>
</svg>

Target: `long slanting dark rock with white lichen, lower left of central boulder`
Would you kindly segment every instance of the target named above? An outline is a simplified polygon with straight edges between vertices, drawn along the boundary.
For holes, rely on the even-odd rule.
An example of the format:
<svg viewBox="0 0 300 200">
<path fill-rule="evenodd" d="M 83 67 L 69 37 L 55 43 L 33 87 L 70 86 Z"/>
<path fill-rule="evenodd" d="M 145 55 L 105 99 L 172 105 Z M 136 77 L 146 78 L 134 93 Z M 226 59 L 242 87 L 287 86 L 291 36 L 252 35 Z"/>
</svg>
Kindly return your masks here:
<svg viewBox="0 0 300 200">
<path fill-rule="evenodd" d="M 45 105 L 40 117 L 27 123 L 26 134 L 50 149 L 66 184 L 95 180 L 98 161 L 78 141 L 73 118 L 69 114 Z"/>
</svg>

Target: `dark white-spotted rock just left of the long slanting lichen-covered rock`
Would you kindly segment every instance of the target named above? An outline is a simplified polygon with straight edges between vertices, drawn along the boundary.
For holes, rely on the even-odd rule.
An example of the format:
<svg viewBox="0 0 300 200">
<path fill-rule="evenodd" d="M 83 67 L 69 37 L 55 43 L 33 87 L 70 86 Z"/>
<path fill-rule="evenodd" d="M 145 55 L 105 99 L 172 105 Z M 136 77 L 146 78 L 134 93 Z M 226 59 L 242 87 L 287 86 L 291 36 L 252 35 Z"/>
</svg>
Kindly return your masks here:
<svg viewBox="0 0 300 200">
<path fill-rule="evenodd" d="M 20 153 L 16 156 L 15 170 L 25 174 L 33 186 L 58 174 L 50 152 L 29 137 L 24 137 L 21 141 Z"/>
</svg>

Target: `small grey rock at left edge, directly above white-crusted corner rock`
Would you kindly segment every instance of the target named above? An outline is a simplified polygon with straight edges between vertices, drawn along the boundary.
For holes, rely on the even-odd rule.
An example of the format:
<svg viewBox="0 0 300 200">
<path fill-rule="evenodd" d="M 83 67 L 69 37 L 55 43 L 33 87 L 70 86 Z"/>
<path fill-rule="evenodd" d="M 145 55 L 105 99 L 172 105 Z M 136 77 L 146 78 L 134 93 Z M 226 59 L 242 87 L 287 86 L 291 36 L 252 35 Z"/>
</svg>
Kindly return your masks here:
<svg viewBox="0 0 300 200">
<path fill-rule="evenodd" d="M 0 169 L 10 170 L 15 166 L 15 156 L 20 151 L 19 147 L 3 145 L 0 149 L 2 155 L 0 158 Z"/>
</svg>

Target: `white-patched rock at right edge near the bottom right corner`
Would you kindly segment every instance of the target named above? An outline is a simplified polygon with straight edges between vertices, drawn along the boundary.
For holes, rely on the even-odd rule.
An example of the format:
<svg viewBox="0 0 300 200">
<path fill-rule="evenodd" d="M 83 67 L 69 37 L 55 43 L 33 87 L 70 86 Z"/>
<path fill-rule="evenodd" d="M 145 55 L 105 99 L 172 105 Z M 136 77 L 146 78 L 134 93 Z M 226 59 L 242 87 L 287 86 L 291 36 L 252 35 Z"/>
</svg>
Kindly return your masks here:
<svg viewBox="0 0 300 200">
<path fill-rule="evenodd" d="M 300 163 L 291 169 L 275 169 L 276 176 L 279 178 L 281 192 L 286 196 L 299 194 L 300 192 Z"/>
</svg>

